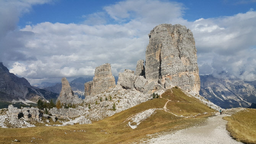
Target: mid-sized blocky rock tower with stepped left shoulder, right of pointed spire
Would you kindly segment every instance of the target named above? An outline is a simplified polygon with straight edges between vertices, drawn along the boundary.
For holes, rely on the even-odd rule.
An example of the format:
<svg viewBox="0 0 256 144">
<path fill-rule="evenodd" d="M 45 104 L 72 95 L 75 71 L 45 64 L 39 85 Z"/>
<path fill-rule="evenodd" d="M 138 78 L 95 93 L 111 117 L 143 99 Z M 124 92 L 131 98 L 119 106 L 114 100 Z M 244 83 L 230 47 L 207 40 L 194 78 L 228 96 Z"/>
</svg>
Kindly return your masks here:
<svg viewBox="0 0 256 144">
<path fill-rule="evenodd" d="M 93 80 L 85 83 L 84 87 L 85 96 L 96 95 L 115 87 L 115 78 L 112 76 L 110 64 L 105 63 L 96 67 Z"/>
</svg>

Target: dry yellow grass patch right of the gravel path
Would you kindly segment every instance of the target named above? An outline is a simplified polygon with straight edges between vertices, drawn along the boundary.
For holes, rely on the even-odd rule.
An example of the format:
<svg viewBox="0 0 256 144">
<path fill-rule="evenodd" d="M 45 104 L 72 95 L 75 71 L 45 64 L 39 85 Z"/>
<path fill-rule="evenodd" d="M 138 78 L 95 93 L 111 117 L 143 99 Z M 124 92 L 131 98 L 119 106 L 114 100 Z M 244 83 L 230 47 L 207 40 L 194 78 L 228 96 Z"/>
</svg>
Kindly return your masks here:
<svg viewBox="0 0 256 144">
<path fill-rule="evenodd" d="M 231 116 L 227 120 L 227 130 L 237 141 L 256 144 L 256 109 L 248 108 Z"/>
</svg>

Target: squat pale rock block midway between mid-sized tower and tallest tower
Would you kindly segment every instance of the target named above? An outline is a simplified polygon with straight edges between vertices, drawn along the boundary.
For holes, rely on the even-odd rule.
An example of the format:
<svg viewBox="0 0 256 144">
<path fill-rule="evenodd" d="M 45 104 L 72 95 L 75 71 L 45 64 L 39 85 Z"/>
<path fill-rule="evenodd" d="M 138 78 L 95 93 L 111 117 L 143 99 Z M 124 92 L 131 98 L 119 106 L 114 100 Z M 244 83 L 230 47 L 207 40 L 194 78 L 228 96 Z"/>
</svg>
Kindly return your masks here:
<svg viewBox="0 0 256 144">
<path fill-rule="evenodd" d="M 121 86 L 124 89 L 132 89 L 134 88 L 135 78 L 134 71 L 125 70 L 123 73 L 119 73 L 117 86 Z"/>
</svg>

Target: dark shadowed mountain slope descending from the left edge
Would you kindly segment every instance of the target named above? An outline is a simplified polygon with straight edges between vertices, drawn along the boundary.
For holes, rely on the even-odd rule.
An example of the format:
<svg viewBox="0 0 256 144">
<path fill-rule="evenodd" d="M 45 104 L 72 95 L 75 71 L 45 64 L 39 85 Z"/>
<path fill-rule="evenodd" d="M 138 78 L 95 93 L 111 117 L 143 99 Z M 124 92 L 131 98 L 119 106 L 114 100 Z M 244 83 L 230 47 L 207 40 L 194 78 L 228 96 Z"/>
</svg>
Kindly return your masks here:
<svg viewBox="0 0 256 144">
<path fill-rule="evenodd" d="M 43 101 L 56 98 L 57 94 L 37 87 L 33 87 L 25 78 L 19 78 L 10 73 L 0 62 L 0 101 L 36 103 L 38 99 Z"/>
</svg>

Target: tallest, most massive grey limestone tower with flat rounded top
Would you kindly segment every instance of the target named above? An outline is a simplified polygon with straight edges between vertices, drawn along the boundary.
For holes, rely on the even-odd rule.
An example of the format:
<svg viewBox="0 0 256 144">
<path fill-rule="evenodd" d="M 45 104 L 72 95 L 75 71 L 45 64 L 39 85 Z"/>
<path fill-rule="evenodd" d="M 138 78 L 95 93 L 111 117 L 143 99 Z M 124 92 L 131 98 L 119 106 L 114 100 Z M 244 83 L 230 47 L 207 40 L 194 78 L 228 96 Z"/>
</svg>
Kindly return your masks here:
<svg viewBox="0 0 256 144">
<path fill-rule="evenodd" d="M 178 86 L 199 94 L 200 78 L 192 32 L 180 24 L 160 24 L 149 34 L 145 76 L 163 87 Z"/>
</svg>

